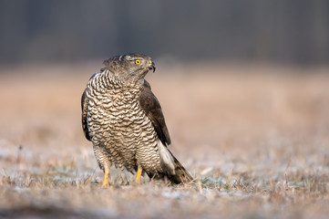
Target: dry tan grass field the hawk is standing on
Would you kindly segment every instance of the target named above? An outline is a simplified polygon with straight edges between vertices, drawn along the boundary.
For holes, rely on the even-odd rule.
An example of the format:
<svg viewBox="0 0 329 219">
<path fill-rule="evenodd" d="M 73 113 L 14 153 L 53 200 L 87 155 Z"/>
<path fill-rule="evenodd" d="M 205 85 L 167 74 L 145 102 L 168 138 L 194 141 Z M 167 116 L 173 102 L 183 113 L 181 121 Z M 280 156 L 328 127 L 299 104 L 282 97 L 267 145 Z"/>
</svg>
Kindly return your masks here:
<svg viewBox="0 0 329 219">
<path fill-rule="evenodd" d="M 99 61 L 101 63 L 101 61 Z M 160 63 L 185 185 L 101 188 L 80 96 L 102 66 L 1 68 L 0 218 L 328 218 L 328 68 Z"/>
</svg>

